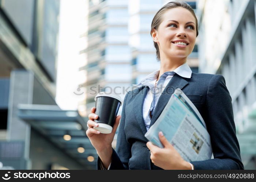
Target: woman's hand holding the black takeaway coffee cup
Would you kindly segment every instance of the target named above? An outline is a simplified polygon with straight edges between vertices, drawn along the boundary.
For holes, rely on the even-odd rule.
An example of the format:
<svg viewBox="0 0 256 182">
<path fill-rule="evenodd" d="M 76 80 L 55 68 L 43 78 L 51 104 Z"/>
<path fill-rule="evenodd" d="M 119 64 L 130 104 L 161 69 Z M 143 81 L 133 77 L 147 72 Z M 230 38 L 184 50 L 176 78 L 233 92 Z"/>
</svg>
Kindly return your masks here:
<svg viewBox="0 0 256 182">
<path fill-rule="evenodd" d="M 97 150 L 97 153 L 104 151 L 107 148 L 112 147 L 114 135 L 116 133 L 117 126 L 120 122 L 121 116 L 116 117 L 116 122 L 113 126 L 113 130 L 110 134 L 103 134 L 95 130 L 93 127 L 98 127 L 98 124 L 94 121 L 98 116 L 95 114 L 95 107 L 91 108 L 91 113 L 88 115 L 89 120 L 87 121 L 88 129 L 86 135 L 90 139 L 91 144 Z"/>
</svg>

